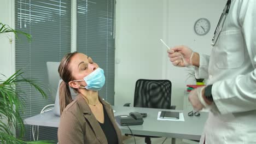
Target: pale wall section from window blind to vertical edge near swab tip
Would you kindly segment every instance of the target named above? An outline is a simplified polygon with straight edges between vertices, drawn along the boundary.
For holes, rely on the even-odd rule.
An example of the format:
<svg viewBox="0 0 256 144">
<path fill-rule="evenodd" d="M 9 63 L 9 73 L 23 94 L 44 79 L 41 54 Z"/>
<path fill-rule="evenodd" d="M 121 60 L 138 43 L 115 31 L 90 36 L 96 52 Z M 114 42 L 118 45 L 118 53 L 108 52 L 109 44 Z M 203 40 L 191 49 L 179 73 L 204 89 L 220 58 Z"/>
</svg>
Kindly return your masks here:
<svg viewBox="0 0 256 144">
<path fill-rule="evenodd" d="M 133 103 L 137 79 L 161 79 L 163 1 L 117 1 L 115 105 Z"/>
</svg>

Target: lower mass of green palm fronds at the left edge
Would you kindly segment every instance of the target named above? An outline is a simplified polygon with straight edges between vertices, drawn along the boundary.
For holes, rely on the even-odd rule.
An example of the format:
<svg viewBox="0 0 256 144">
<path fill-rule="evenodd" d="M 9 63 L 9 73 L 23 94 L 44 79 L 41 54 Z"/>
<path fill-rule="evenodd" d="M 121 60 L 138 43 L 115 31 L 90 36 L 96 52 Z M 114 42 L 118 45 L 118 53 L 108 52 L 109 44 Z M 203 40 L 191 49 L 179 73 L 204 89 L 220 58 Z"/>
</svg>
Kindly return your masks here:
<svg viewBox="0 0 256 144">
<path fill-rule="evenodd" d="M 23 72 L 21 70 L 17 70 L 7 80 L 0 81 L 0 118 L 6 118 L 8 120 L 7 124 L 0 123 L 0 129 L 9 134 L 8 129 L 15 127 L 20 130 L 21 137 L 24 136 L 25 127 L 19 112 L 24 110 L 25 100 L 19 97 L 19 94 L 25 92 L 22 92 L 22 89 L 16 89 L 16 86 L 28 83 L 31 87 L 35 88 L 43 98 L 47 98 L 46 93 L 42 89 L 45 87 L 40 84 L 37 79 L 26 78 L 22 76 L 22 74 Z"/>
</svg>

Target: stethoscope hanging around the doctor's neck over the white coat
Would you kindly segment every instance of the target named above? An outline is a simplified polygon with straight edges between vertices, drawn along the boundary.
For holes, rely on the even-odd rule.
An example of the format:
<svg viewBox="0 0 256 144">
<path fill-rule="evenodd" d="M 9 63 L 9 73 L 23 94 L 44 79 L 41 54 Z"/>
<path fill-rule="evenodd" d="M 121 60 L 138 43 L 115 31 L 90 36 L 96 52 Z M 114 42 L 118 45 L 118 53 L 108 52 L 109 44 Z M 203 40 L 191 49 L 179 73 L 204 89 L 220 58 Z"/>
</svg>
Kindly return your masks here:
<svg viewBox="0 0 256 144">
<path fill-rule="evenodd" d="M 217 25 L 217 27 L 214 31 L 214 35 L 212 37 L 212 43 L 211 43 L 212 46 L 214 46 L 216 44 L 216 41 L 219 38 L 219 34 L 222 31 L 222 27 L 223 27 L 224 22 L 226 20 L 226 15 L 228 15 L 228 13 L 229 13 L 230 5 L 231 5 L 231 0 L 228 0 L 228 2 L 226 2 L 225 8 L 223 9 L 223 13 L 219 18 L 218 25 Z"/>
</svg>

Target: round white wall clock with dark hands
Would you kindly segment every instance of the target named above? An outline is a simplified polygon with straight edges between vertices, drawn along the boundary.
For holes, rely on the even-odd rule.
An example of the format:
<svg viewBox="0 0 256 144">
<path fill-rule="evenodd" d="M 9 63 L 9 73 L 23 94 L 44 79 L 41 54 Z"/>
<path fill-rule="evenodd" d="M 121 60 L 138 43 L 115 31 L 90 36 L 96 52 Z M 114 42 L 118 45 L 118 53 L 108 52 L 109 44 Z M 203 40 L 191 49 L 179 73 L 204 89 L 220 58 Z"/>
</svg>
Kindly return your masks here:
<svg viewBox="0 0 256 144">
<path fill-rule="evenodd" d="M 206 35 L 210 31 L 210 21 L 201 18 L 195 22 L 194 30 L 197 35 Z"/>
</svg>

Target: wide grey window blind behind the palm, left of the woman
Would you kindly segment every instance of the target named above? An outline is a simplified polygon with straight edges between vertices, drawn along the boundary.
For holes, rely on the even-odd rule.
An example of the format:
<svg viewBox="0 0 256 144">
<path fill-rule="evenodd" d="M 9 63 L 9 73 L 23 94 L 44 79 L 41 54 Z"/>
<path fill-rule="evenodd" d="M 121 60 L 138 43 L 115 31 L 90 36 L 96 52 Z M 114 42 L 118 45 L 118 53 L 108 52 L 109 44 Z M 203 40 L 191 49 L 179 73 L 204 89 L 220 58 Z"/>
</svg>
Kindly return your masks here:
<svg viewBox="0 0 256 144">
<path fill-rule="evenodd" d="M 47 86 L 46 62 L 60 62 L 63 55 L 71 51 L 71 1 L 16 0 L 15 28 L 32 35 L 31 43 L 22 36 L 16 40 L 16 70 L 22 69 L 23 76 L 36 78 Z M 20 94 L 26 101 L 26 109 L 21 114 L 24 119 L 37 115 L 44 106 L 54 104 L 47 87 L 47 100 L 30 85 L 17 89 L 25 92 Z M 25 140 L 33 140 L 31 125 L 26 125 Z M 57 128 L 39 127 L 39 140 L 57 140 Z"/>
</svg>

